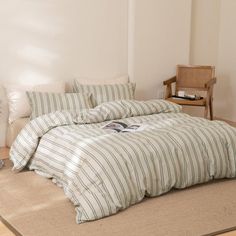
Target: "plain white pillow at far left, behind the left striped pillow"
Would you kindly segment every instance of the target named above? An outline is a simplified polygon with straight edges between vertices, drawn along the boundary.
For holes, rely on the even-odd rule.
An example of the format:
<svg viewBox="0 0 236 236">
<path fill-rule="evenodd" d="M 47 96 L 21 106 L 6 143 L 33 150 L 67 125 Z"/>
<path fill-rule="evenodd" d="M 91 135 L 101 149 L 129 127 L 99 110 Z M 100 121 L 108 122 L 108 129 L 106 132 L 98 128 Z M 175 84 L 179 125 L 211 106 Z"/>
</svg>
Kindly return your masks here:
<svg viewBox="0 0 236 236">
<path fill-rule="evenodd" d="M 65 83 L 57 82 L 36 86 L 6 85 L 6 94 L 9 104 L 9 123 L 20 118 L 29 117 L 31 107 L 26 91 L 64 93 Z"/>
</svg>

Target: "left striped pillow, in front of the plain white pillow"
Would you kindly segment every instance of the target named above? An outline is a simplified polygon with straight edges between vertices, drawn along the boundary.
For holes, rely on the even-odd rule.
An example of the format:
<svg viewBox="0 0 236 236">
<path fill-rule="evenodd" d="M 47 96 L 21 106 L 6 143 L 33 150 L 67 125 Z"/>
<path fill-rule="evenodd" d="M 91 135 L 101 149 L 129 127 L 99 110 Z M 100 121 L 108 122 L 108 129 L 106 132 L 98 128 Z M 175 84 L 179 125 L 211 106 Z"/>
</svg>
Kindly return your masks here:
<svg viewBox="0 0 236 236">
<path fill-rule="evenodd" d="M 40 93 L 27 91 L 32 108 L 31 119 L 61 110 L 92 108 L 89 93 Z"/>
</svg>

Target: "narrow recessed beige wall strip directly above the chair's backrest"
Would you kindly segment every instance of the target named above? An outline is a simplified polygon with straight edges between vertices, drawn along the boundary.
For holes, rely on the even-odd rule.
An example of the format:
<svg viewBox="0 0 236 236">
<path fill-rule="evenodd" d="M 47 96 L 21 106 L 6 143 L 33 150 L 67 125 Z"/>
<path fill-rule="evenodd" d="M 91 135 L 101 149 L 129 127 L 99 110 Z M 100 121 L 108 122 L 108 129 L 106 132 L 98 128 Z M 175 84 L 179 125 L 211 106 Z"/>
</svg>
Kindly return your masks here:
<svg viewBox="0 0 236 236">
<path fill-rule="evenodd" d="M 220 0 L 193 0 L 191 64 L 217 64 Z"/>
</svg>

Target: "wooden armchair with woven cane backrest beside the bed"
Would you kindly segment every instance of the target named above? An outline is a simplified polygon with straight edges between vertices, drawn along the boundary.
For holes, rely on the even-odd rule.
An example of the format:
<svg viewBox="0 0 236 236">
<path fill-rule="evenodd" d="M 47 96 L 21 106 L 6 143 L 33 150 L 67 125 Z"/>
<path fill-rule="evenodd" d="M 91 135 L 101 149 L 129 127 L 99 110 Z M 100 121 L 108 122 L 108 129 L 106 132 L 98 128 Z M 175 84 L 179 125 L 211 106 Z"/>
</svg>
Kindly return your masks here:
<svg viewBox="0 0 236 236">
<path fill-rule="evenodd" d="M 206 96 L 200 100 L 175 99 L 172 97 L 172 84 L 176 83 L 175 93 L 178 91 L 205 91 Z M 166 85 L 165 99 L 179 105 L 205 107 L 204 117 L 207 118 L 210 110 L 210 119 L 213 120 L 213 85 L 216 83 L 215 67 L 177 65 L 176 76 L 163 82 Z"/>
</svg>

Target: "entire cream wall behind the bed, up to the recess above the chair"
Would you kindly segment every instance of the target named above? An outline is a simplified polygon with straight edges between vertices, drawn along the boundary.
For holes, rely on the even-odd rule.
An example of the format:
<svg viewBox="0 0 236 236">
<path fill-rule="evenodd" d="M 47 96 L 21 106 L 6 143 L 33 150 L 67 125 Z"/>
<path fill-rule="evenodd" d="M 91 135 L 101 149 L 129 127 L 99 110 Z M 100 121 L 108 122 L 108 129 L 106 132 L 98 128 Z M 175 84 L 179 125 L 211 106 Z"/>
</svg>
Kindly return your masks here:
<svg viewBox="0 0 236 236">
<path fill-rule="evenodd" d="M 160 97 L 175 65 L 188 63 L 190 14 L 191 0 L 3 1 L 0 82 L 130 73 L 138 99 Z"/>
</svg>

